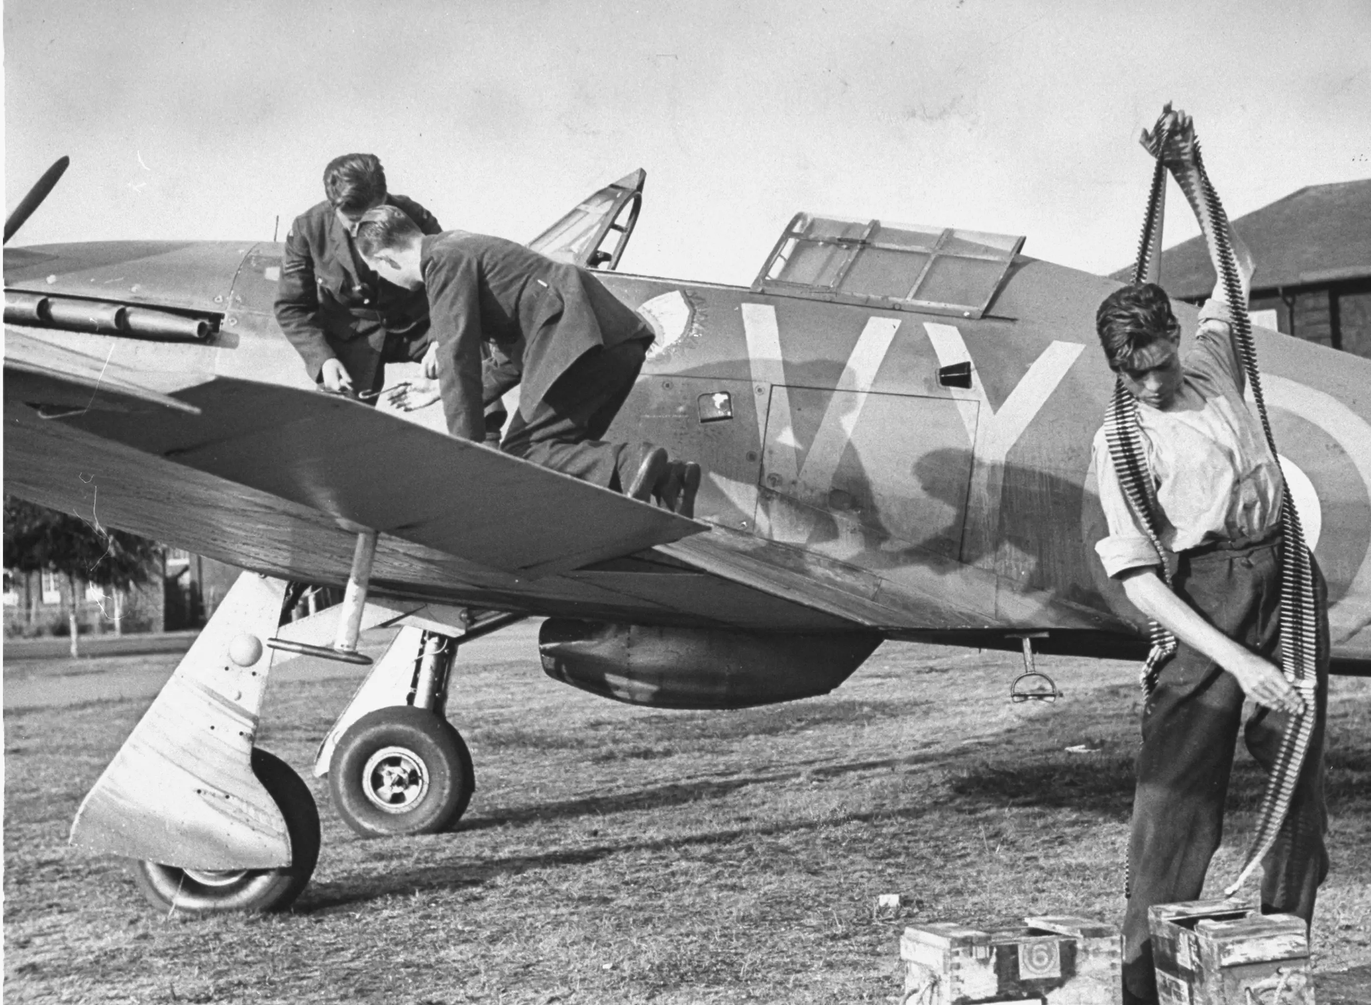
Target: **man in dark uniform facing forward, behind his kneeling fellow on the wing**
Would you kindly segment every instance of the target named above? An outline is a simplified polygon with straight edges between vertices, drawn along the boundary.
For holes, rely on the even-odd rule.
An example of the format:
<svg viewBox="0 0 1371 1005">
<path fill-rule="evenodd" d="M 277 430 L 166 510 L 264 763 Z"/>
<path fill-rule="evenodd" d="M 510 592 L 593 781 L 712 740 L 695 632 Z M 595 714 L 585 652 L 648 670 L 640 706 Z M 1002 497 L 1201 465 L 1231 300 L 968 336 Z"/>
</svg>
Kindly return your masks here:
<svg viewBox="0 0 1371 1005">
<path fill-rule="evenodd" d="M 367 210 L 391 206 L 426 234 L 441 230 L 413 199 L 389 195 L 374 154 L 344 154 L 324 169 L 328 199 L 285 236 L 276 319 L 310 377 L 326 391 L 377 392 L 387 362 L 418 361 L 428 346 L 428 298 L 380 278 L 352 243 Z"/>
</svg>

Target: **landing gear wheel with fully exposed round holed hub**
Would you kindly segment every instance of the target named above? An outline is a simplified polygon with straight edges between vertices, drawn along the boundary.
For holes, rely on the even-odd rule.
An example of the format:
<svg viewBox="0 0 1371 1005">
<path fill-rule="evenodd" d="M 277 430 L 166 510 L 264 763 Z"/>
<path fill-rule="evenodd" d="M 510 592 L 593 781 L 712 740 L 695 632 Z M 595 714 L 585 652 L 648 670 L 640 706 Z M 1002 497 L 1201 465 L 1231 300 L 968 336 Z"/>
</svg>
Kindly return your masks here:
<svg viewBox="0 0 1371 1005">
<path fill-rule="evenodd" d="M 343 734 L 329 760 L 329 791 L 339 816 L 363 838 L 437 834 L 466 812 L 476 775 L 451 723 L 395 705 Z"/>
</svg>

